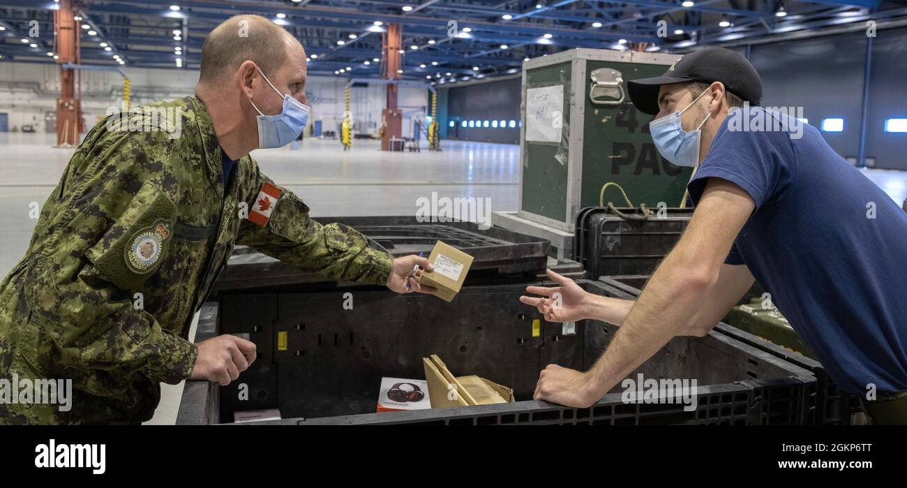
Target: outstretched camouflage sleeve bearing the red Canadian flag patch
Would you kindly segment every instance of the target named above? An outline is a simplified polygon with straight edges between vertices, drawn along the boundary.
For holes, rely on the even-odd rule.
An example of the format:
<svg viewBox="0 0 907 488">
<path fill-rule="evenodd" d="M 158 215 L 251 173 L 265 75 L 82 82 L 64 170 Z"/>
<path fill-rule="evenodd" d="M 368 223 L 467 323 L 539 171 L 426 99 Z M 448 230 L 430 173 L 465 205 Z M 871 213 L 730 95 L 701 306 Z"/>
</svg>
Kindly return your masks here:
<svg viewBox="0 0 907 488">
<path fill-rule="evenodd" d="M 247 201 L 250 220 L 243 220 L 239 226 L 238 244 L 322 277 L 374 285 L 387 283 L 394 268 L 390 254 L 370 248 L 368 240 L 356 229 L 312 220 L 302 200 L 261 174 L 254 161 L 252 164 L 255 178 Z M 261 198 L 259 190 L 266 182 L 280 194 L 270 218 L 261 226 L 254 222 L 254 213 Z"/>
</svg>

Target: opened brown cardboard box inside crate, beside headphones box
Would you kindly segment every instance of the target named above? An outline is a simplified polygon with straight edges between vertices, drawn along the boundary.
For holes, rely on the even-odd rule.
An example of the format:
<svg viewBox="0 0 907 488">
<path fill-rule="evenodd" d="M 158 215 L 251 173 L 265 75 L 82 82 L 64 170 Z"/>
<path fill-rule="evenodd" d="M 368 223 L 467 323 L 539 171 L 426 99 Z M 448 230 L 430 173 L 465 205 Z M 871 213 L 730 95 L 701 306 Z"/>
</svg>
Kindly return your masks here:
<svg viewBox="0 0 907 488">
<path fill-rule="evenodd" d="M 422 362 L 432 408 L 506 404 L 514 401 L 513 390 L 507 386 L 474 375 L 454 377 L 437 355 L 424 357 Z"/>
</svg>

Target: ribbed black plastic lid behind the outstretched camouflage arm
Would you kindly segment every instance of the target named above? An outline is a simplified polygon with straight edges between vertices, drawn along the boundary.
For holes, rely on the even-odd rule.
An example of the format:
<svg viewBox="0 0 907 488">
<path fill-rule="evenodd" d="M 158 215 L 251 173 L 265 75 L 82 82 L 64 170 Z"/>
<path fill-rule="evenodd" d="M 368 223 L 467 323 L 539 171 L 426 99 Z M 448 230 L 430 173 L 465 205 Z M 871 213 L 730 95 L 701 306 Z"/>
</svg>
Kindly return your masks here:
<svg viewBox="0 0 907 488">
<path fill-rule="evenodd" d="M 435 242 L 443 240 L 473 257 L 470 277 L 532 279 L 544 273 L 551 243 L 501 227 L 479 229 L 472 222 L 419 222 L 415 217 L 325 217 L 319 222 L 337 222 L 358 230 L 376 249 L 394 257 L 431 254 Z M 324 283 L 326 278 L 258 251 L 239 246 L 227 268 L 214 284 L 214 291 L 265 286 Z M 215 294 L 216 297 L 216 294 Z"/>
</svg>

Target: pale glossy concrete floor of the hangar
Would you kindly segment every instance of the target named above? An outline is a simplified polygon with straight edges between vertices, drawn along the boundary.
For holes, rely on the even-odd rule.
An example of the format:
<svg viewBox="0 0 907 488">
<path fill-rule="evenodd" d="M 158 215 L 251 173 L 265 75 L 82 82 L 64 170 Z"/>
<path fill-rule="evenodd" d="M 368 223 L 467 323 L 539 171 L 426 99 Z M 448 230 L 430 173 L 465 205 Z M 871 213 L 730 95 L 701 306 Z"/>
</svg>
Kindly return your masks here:
<svg viewBox="0 0 907 488">
<path fill-rule="evenodd" d="M 36 220 L 29 205 L 43 205 L 73 149 L 54 149 L 53 134 L 0 133 L 0 276 L 22 258 Z M 314 217 L 414 215 L 416 200 L 487 197 L 492 211 L 517 208 L 520 148 L 482 142 L 442 142 L 444 152 L 385 152 L 378 143 L 307 140 L 301 148 L 253 153 L 268 176 L 306 201 Z M 864 170 L 900 205 L 907 171 Z M 190 332 L 194 336 L 193 330 Z M 151 424 L 172 424 L 182 385 L 163 386 Z"/>
</svg>

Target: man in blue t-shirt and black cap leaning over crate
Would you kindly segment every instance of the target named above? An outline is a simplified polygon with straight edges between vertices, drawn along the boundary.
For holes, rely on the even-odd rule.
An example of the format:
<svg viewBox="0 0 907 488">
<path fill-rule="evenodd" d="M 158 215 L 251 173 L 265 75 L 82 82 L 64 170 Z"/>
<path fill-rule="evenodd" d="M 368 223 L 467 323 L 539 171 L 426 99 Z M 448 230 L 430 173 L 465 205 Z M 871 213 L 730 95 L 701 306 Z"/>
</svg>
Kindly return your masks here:
<svg viewBox="0 0 907 488">
<path fill-rule="evenodd" d="M 759 108 L 741 54 L 687 54 L 629 95 L 657 115 L 662 156 L 696 168 L 696 211 L 637 300 L 594 297 L 551 271 L 560 287 L 528 288 L 543 297 L 521 300 L 549 320 L 620 326 L 590 371 L 543 370 L 535 398 L 591 405 L 671 337 L 705 336 L 755 277 L 874 422 L 907 423 L 907 214 L 814 127 Z"/>
</svg>

